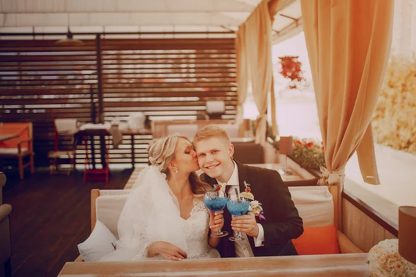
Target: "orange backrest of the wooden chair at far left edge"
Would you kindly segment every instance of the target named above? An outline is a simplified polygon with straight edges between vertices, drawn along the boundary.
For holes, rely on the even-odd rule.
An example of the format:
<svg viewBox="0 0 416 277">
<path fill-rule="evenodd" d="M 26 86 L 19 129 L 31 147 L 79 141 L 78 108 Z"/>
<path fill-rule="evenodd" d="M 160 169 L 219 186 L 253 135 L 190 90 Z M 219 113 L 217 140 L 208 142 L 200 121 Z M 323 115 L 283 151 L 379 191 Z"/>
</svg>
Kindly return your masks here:
<svg viewBox="0 0 416 277">
<path fill-rule="evenodd" d="M 0 134 L 17 134 L 13 139 L 0 142 L 0 148 L 17 148 L 20 141 L 26 141 L 33 138 L 33 125 L 28 123 L 3 123 L 0 127 Z M 22 143 L 22 148 L 33 149 L 33 142 Z"/>
</svg>

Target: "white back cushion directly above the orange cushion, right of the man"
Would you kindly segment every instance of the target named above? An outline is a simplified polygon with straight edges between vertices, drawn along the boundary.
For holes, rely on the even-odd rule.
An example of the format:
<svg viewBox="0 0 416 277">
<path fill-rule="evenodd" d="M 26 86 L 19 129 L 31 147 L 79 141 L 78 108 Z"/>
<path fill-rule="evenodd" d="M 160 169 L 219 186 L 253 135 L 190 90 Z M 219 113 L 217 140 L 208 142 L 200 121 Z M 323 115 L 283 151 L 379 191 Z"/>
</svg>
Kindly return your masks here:
<svg viewBox="0 0 416 277">
<path fill-rule="evenodd" d="M 333 199 L 327 186 L 289 187 L 305 227 L 333 225 Z"/>
</svg>

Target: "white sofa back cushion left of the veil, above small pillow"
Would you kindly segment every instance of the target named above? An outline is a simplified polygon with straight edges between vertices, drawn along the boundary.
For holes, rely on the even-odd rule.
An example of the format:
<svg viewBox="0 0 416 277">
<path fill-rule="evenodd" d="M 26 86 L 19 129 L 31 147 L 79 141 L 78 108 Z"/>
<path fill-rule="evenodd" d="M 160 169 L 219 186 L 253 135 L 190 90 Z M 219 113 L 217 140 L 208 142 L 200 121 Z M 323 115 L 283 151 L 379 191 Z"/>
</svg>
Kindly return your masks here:
<svg viewBox="0 0 416 277">
<path fill-rule="evenodd" d="M 124 194 L 119 192 L 124 192 Z M 119 190 L 119 192 L 116 192 L 117 194 L 114 195 L 100 195 L 96 199 L 97 220 L 103 222 L 116 238 L 119 238 L 117 224 L 119 223 L 125 199 L 127 199 L 128 190 Z"/>
</svg>

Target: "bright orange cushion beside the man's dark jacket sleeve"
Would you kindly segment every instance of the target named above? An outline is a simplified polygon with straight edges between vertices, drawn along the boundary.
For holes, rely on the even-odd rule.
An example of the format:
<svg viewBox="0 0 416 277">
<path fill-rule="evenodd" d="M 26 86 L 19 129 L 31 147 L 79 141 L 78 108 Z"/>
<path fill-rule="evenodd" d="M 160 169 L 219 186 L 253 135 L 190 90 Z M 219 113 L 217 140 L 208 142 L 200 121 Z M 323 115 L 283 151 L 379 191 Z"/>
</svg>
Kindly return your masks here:
<svg viewBox="0 0 416 277">
<path fill-rule="evenodd" d="M 336 226 L 305 227 L 302 235 L 292 240 L 299 255 L 338 254 Z"/>
</svg>

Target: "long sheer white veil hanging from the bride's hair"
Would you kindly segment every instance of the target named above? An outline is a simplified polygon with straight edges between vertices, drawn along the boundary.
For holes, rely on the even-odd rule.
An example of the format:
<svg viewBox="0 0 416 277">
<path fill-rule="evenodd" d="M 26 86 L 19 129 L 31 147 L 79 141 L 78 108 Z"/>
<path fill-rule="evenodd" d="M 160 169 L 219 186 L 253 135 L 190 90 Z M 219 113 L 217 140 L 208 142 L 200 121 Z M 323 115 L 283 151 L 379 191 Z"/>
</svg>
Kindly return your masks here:
<svg viewBox="0 0 416 277">
<path fill-rule="evenodd" d="M 163 241 L 187 251 L 179 204 L 166 182 L 166 175 L 155 166 L 141 170 L 130 190 L 119 218 L 116 250 L 102 261 L 145 260 L 148 247 Z M 156 256 L 153 259 L 162 258 Z"/>
</svg>

